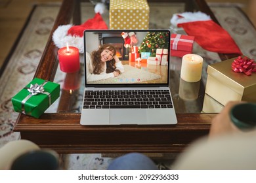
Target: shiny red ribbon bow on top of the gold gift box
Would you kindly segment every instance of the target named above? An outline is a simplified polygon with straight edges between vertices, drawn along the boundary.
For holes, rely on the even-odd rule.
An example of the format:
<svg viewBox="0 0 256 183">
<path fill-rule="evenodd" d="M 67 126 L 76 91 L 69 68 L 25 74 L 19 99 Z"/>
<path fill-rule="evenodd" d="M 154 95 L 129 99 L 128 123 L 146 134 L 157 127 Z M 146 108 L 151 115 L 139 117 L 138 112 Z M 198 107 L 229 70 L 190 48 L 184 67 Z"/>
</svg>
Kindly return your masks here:
<svg viewBox="0 0 256 183">
<path fill-rule="evenodd" d="M 244 73 L 247 76 L 256 72 L 256 63 L 254 63 L 254 59 L 249 59 L 247 57 L 242 58 L 242 56 L 239 56 L 234 59 L 231 67 L 234 72 Z"/>
</svg>

